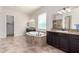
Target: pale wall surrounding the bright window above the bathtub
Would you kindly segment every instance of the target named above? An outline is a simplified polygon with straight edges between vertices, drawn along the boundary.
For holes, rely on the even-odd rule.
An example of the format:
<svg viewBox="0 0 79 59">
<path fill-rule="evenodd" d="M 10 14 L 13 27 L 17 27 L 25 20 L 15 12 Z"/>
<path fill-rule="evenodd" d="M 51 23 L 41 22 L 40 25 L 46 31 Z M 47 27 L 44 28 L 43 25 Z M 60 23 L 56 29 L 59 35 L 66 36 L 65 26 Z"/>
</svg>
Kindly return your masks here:
<svg viewBox="0 0 79 59">
<path fill-rule="evenodd" d="M 62 9 L 64 6 L 45 6 L 41 7 L 37 11 L 35 11 L 32 14 L 32 18 L 36 20 L 36 29 L 38 29 L 38 15 L 41 13 L 46 12 L 47 13 L 47 30 L 50 30 L 52 28 L 52 20 L 53 15 L 57 12 L 57 10 Z"/>
</svg>

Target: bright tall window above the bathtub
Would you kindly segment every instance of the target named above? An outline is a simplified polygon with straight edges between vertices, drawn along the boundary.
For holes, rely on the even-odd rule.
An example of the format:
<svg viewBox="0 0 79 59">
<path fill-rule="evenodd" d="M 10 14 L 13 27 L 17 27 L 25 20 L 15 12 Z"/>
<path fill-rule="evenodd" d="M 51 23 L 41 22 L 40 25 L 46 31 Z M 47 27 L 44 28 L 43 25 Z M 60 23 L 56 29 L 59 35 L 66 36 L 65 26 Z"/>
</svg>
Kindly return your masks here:
<svg viewBox="0 0 79 59">
<path fill-rule="evenodd" d="M 38 29 L 46 30 L 46 13 L 42 13 L 38 16 Z"/>
</svg>

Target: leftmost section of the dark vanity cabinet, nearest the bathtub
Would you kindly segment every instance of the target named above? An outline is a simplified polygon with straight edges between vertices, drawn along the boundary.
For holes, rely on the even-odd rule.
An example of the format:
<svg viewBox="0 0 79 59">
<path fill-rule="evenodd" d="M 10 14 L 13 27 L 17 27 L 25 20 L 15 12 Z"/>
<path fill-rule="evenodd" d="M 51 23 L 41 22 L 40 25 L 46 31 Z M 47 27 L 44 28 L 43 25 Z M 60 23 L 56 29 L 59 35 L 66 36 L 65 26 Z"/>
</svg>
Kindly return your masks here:
<svg viewBox="0 0 79 59">
<path fill-rule="evenodd" d="M 57 33 L 54 32 L 47 32 L 47 43 L 54 47 L 59 47 L 59 40 L 57 37 Z"/>
</svg>

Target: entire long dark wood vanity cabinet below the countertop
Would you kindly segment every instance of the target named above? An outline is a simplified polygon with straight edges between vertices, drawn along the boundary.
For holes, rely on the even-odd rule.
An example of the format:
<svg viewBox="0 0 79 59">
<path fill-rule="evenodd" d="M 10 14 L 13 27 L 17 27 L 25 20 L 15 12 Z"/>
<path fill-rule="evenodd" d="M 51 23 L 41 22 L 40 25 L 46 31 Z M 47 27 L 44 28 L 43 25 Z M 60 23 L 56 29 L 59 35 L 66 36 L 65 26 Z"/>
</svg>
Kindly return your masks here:
<svg viewBox="0 0 79 59">
<path fill-rule="evenodd" d="M 65 52 L 79 53 L 79 36 L 47 31 L 47 43 Z"/>
</svg>

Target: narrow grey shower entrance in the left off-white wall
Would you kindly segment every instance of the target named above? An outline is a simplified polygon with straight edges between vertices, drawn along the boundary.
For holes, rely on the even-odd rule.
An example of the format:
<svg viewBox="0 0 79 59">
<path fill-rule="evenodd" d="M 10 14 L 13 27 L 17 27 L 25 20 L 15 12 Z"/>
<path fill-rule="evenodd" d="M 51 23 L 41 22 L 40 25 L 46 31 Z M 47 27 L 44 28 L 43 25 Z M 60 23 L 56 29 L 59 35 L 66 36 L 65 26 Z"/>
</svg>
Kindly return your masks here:
<svg viewBox="0 0 79 59">
<path fill-rule="evenodd" d="M 6 35 L 14 36 L 14 16 L 6 16 Z"/>
</svg>

